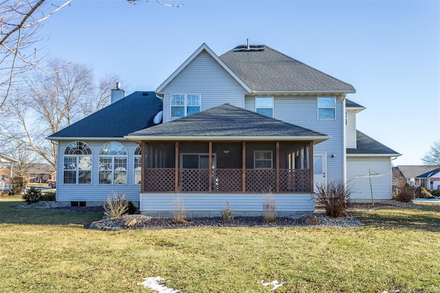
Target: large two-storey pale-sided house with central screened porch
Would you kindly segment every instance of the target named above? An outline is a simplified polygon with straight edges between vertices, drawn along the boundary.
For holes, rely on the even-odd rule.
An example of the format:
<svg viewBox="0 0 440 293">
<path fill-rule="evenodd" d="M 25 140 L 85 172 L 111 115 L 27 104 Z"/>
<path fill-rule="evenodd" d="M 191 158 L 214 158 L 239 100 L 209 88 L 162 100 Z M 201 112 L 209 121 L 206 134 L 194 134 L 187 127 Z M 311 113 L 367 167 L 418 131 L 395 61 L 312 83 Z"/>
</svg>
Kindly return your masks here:
<svg viewBox="0 0 440 293">
<path fill-rule="evenodd" d="M 116 191 L 150 215 L 171 215 L 177 197 L 189 216 L 220 215 L 226 202 L 237 215 L 260 215 L 272 193 L 278 213 L 290 214 L 313 211 L 314 186 L 327 182 L 349 182 L 354 201 L 371 200 L 370 180 L 375 199 L 391 199 L 400 154 L 356 130 L 364 107 L 347 100 L 354 87 L 270 47 L 217 56 L 202 44 L 156 93 L 155 111 L 127 101 L 135 93 L 50 135 L 58 201 L 102 204 Z M 127 120 L 156 113 L 163 124 Z"/>
</svg>

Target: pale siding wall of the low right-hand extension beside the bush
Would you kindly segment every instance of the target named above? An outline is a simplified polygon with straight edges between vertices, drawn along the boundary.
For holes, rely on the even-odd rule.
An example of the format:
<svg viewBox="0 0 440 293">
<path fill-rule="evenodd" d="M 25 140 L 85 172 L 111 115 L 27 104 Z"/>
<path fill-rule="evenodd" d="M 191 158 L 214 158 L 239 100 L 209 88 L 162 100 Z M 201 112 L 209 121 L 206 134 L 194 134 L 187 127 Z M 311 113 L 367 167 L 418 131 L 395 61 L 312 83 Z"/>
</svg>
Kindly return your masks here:
<svg viewBox="0 0 440 293">
<path fill-rule="evenodd" d="M 380 173 L 371 177 L 374 199 L 391 199 L 393 197 L 393 180 L 390 158 L 347 158 L 347 185 L 351 188 L 353 202 L 371 202 L 369 170 Z M 364 176 L 364 177 L 360 177 Z"/>
</svg>

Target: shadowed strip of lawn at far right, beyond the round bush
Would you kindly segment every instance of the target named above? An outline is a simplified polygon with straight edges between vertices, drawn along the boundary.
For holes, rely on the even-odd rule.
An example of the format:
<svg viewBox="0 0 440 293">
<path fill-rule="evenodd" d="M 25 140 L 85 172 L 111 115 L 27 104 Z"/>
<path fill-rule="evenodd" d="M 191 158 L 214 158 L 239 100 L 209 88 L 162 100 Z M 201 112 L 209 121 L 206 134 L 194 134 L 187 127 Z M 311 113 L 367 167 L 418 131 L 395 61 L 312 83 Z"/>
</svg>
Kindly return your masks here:
<svg viewBox="0 0 440 293">
<path fill-rule="evenodd" d="M 366 226 L 439 232 L 440 205 L 424 204 L 421 206 L 421 209 L 384 208 L 366 212 L 353 212 L 353 215 Z"/>
</svg>

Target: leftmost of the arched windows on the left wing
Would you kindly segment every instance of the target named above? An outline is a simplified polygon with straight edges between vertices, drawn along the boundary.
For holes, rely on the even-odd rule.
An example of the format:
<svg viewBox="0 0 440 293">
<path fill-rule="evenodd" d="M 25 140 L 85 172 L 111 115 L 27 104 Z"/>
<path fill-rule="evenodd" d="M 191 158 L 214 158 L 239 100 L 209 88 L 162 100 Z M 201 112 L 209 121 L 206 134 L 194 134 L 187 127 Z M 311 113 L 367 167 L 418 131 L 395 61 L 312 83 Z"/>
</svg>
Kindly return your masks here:
<svg viewBox="0 0 440 293">
<path fill-rule="evenodd" d="M 85 142 L 71 142 L 64 151 L 64 184 L 91 184 L 91 149 Z"/>
</svg>

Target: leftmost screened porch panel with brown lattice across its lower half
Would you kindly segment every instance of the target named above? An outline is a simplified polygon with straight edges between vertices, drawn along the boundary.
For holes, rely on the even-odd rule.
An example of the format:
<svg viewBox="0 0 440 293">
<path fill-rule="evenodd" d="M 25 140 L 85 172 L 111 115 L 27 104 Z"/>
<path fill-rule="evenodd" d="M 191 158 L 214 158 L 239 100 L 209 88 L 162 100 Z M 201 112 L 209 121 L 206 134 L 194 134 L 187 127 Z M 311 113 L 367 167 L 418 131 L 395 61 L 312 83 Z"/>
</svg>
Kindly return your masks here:
<svg viewBox="0 0 440 293">
<path fill-rule="evenodd" d="M 144 151 L 144 191 L 175 191 L 175 143 L 148 142 Z"/>
</svg>

